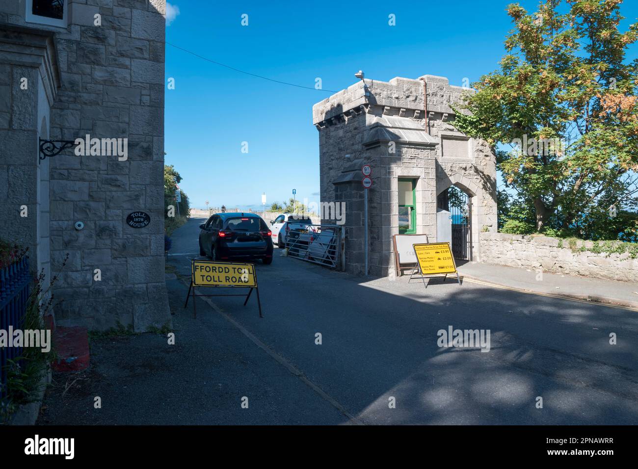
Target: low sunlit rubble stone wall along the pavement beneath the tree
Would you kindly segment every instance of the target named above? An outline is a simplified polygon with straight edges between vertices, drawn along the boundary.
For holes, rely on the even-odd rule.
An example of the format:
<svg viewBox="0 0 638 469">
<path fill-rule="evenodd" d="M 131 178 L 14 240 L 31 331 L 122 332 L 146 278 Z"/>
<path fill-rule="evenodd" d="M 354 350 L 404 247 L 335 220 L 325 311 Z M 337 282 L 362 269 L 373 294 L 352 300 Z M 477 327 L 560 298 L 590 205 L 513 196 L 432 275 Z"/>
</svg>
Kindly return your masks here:
<svg viewBox="0 0 638 469">
<path fill-rule="evenodd" d="M 482 233 L 483 262 L 544 272 L 581 275 L 590 278 L 638 282 L 638 258 L 628 253 L 593 253 L 591 241 L 577 241 L 574 251 L 568 242 L 535 235 Z M 561 247 L 559 247 L 561 246 Z"/>
</svg>

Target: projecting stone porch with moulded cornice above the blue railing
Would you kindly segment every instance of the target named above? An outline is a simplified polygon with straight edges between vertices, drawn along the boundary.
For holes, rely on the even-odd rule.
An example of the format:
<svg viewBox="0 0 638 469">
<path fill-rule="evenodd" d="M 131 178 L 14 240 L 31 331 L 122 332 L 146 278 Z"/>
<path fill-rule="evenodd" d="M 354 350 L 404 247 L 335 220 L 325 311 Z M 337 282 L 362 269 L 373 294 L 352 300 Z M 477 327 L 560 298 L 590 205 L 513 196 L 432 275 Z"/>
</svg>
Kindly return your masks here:
<svg viewBox="0 0 638 469">
<path fill-rule="evenodd" d="M 49 162 L 38 159 L 59 87 L 54 35 L 5 28 L 0 4 L 0 237 L 28 249 L 32 274 L 50 279 Z"/>
</svg>

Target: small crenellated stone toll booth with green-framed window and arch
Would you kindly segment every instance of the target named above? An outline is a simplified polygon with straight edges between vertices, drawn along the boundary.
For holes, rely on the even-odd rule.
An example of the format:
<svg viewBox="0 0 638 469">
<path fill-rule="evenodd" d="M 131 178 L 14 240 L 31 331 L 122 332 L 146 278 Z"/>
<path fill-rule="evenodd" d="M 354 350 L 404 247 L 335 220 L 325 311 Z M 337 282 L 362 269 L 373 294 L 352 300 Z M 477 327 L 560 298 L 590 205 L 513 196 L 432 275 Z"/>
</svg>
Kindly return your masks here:
<svg viewBox="0 0 638 469">
<path fill-rule="evenodd" d="M 454 128 L 450 104 L 470 92 L 433 75 L 389 82 L 364 78 L 314 105 L 321 200 L 346 204 L 349 271 L 364 270 L 364 164 L 371 165 L 373 180 L 368 207 L 371 274 L 396 275 L 392 236 L 400 231 L 399 214 L 401 227 L 410 225 L 406 232 L 437 241 L 437 198 L 452 185 L 468 197 L 467 258 L 481 260 L 479 233 L 497 228 L 496 159 L 486 142 Z M 406 202 L 412 197 L 413 202 Z"/>
</svg>

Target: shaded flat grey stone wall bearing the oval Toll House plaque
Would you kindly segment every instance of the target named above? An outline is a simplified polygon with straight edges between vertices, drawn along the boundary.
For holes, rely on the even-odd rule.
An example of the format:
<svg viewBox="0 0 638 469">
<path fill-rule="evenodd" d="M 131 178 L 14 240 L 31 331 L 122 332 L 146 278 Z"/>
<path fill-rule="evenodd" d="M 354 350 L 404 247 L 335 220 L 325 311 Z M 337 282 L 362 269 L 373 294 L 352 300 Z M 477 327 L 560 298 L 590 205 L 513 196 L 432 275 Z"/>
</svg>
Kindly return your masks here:
<svg viewBox="0 0 638 469">
<path fill-rule="evenodd" d="M 61 272 L 54 289 L 61 300 L 56 320 L 91 329 L 118 322 L 136 331 L 163 325 L 170 321 L 163 257 L 165 0 L 69 0 L 66 28 L 26 22 L 24 3 L 15 3 L 21 6 L 0 8 L 0 29 L 5 23 L 53 36 L 59 89 L 48 138 L 128 138 L 123 161 L 76 156 L 73 149 L 47 158 L 48 174 L 41 177 L 46 193 L 38 195 L 38 203 L 49 204 L 50 198 L 50 212 L 40 211 L 50 220 L 39 223 L 40 232 L 50 235 L 52 274 Z M 4 73 L 0 80 L 6 81 Z M 23 72 L 11 73 L 15 89 L 16 74 Z M 19 115 L 29 116 L 28 108 L 26 103 Z M 35 155 L 40 123 L 29 120 L 31 133 L 23 137 L 17 115 L 7 138 L 18 140 L 16 146 L 28 144 Z M 35 161 L 29 162 L 34 168 Z M 2 174 L 0 167 L 0 183 Z M 27 182 L 27 188 L 33 186 Z M 129 227 L 126 217 L 133 211 L 147 212 L 151 223 Z M 76 230 L 76 221 L 84 229 Z"/>
</svg>

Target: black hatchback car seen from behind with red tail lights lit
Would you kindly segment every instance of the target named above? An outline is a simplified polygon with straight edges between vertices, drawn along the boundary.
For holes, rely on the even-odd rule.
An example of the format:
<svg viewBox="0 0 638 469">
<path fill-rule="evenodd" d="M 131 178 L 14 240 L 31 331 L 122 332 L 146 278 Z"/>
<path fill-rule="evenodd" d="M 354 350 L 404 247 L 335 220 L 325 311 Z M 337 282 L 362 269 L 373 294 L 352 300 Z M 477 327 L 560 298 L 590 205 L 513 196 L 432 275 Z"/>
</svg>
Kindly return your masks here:
<svg viewBox="0 0 638 469">
<path fill-rule="evenodd" d="M 272 262 L 271 230 L 254 213 L 216 213 L 200 228 L 200 256 Z"/>
</svg>

